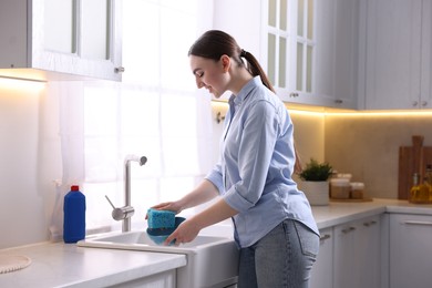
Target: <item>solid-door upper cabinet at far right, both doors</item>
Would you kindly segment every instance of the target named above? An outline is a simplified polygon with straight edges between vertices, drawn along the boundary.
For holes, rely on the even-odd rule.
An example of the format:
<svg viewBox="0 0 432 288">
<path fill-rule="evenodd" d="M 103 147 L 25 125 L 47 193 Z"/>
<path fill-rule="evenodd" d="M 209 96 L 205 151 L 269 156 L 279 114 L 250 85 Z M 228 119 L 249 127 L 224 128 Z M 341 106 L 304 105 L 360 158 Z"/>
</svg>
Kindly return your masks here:
<svg viewBox="0 0 432 288">
<path fill-rule="evenodd" d="M 360 109 L 432 107 L 432 1 L 361 2 L 364 73 Z"/>
</svg>

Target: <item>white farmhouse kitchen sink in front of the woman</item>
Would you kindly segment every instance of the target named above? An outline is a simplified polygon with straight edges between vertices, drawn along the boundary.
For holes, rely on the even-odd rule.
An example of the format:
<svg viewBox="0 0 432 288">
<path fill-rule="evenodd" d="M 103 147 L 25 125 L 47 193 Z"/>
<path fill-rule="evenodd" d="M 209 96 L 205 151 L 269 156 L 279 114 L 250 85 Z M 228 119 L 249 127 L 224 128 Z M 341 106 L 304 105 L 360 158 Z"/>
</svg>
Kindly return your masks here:
<svg viewBox="0 0 432 288">
<path fill-rule="evenodd" d="M 155 244 L 145 230 L 109 233 L 88 237 L 80 247 L 172 253 L 186 255 L 187 265 L 177 269 L 177 287 L 227 287 L 237 280 L 238 249 L 228 237 L 198 235 L 179 246 Z"/>
</svg>

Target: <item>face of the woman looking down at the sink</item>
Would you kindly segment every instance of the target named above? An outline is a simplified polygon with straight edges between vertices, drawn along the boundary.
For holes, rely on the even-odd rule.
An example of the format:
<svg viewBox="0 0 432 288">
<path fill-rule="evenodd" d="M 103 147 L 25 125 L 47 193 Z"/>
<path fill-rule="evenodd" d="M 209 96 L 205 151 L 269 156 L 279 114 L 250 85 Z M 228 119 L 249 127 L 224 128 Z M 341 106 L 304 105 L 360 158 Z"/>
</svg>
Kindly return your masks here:
<svg viewBox="0 0 432 288">
<path fill-rule="evenodd" d="M 227 91 L 229 82 L 229 58 L 227 55 L 223 55 L 219 61 L 191 55 L 189 61 L 198 89 L 207 89 L 217 99 Z"/>
</svg>

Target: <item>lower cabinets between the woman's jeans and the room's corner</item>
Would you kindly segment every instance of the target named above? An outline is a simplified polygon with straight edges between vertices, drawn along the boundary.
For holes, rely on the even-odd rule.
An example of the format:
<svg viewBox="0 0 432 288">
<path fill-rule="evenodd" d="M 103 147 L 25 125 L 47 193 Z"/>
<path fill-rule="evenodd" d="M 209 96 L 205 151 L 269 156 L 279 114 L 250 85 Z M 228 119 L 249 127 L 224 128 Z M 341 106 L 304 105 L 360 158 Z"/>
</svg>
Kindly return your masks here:
<svg viewBox="0 0 432 288">
<path fill-rule="evenodd" d="M 320 230 L 311 288 L 381 288 L 381 215 Z"/>
</svg>

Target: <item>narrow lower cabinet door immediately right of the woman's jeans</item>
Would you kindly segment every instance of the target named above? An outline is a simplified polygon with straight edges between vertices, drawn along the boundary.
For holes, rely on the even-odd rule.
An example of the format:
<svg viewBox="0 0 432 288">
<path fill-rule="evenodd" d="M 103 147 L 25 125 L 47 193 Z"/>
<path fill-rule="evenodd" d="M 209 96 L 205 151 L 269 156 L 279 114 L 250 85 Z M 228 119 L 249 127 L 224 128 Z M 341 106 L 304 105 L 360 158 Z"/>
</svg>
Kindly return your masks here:
<svg viewBox="0 0 432 288">
<path fill-rule="evenodd" d="M 320 230 L 320 245 L 317 261 L 312 267 L 310 279 L 311 288 L 333 287 L 333 230 L 327 228 Z"/>
</svg>

